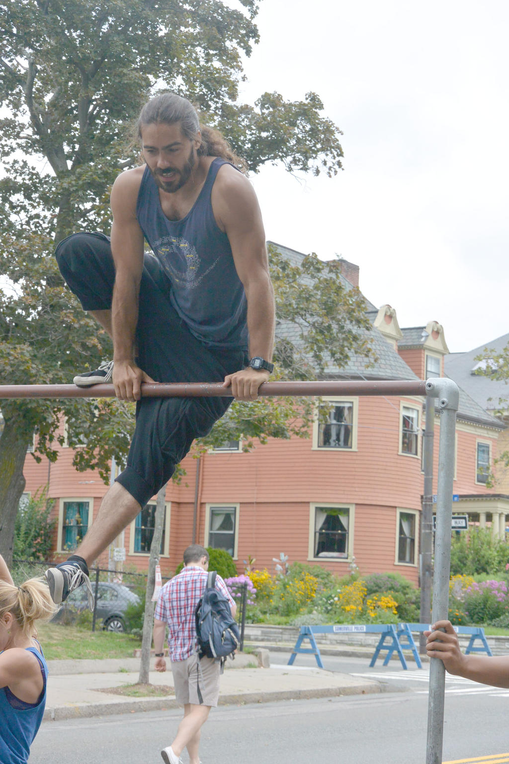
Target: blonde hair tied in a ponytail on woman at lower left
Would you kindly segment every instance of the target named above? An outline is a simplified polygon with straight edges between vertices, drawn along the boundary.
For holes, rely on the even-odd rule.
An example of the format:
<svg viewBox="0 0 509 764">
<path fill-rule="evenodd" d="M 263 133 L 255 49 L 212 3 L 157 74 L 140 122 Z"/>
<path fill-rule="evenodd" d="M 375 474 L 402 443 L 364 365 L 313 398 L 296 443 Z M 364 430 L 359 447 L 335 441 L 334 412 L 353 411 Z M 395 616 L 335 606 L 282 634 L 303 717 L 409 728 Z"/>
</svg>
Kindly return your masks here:
<svg viewBox="0 0 509 764">
<path fill-rule="evenodd" d="M 36 633 L 35 622 L 50 620 L 56 610 L 43 578 L 30 578 L 21 586 L 0 581 L 0 618 L 12 613 L 28 639 Z"/>
</svg>

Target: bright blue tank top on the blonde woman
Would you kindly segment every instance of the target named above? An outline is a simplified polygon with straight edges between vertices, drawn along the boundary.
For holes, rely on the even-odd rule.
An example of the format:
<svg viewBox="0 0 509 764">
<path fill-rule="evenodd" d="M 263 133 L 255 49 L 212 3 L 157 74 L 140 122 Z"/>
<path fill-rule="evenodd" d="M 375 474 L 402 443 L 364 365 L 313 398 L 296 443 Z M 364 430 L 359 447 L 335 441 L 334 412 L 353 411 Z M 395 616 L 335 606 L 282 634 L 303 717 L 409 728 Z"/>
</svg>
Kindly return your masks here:
<svg viewBox="0 0 509 764">
<path fill-rule="evenodd" d="M 0 762 L 26 764 L 32 740 L 37 735 L 46 706 L 46 680 L 48 667 L 42 650 L 27 647 L 39 661 L 43 675 L 43 691 L 37 703 L 25 703 L 16 698 L 8 687 L 0 689 Z"/>
</svg>

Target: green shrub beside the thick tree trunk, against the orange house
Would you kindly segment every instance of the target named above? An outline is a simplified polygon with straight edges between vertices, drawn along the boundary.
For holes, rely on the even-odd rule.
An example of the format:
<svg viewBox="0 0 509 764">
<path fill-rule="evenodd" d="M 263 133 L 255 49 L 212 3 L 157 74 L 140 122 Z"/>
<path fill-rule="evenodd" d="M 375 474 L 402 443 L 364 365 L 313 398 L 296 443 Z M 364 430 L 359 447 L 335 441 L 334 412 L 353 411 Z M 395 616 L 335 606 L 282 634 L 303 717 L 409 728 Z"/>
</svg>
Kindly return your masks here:
<svg viewBox="0 0 509 764">
<path fill-rule="evenodd" d="M 14 525 L 14 558 L 17 560 L 49 560 L 56 520 L 50 520 L 53 500 L 47 488 L 38 490 L 16 515 Z"/>
</svg>

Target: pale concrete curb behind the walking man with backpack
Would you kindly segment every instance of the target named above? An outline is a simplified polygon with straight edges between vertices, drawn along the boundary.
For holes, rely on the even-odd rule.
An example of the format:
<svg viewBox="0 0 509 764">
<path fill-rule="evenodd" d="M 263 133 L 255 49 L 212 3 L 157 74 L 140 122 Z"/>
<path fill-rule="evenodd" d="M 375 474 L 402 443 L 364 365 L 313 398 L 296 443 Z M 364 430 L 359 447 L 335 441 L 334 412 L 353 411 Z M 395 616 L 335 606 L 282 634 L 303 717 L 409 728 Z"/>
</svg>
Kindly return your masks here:
<svg viewBox="0 0 509 764">
<path fill-rule="evenodd" d="M 220 706 L 245 705 L 248 703 L 272 703 L 272 701 L 300 701 L 311 698 L 337 698 L 342 695 L 366 695 L 385 692 L 379 682 L 351 685 L 350 687 L 321 687 L 311 690 L 276 690 L 273 692 L 245 692 L 221 695 Z M 54 706 L 44 712 L 43 721 L 62 721 L 66 719 L 85 719 L 114 714 L 134 714 L 140 711 L 168 711 L 181 708 L 172 696 L 166 698 L 133 698 L 132 700 L 107 701 L 83 705 Z"/>
</svg>

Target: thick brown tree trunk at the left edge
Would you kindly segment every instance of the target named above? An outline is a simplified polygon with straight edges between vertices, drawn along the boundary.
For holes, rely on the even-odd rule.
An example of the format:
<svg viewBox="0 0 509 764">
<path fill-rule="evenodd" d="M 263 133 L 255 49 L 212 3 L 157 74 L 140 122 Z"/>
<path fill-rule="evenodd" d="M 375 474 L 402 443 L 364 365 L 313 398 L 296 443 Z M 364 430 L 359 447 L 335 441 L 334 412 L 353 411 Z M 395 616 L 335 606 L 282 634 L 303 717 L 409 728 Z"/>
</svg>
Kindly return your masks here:
<svg viewBox="0 0 509 764">
<path fill-rule="evenodd" d="M 8 567 L 12 562 L 14 523 L 23 493 L 27 436 L 15 423 L 5 422 L 0 435 L 0 554 Z"/>
</svg>

